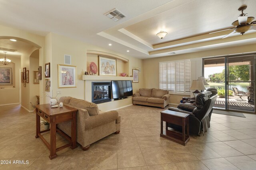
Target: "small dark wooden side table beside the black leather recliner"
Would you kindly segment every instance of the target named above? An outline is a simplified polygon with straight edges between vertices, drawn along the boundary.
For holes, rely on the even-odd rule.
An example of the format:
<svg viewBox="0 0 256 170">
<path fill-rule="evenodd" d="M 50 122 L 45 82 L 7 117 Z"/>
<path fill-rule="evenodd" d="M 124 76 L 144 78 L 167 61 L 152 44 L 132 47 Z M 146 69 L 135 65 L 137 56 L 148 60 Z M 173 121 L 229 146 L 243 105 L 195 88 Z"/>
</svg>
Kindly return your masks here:
<svg viewBox="0 0 256 170">
<path fill-rule="evenodd" d="M 164 110 L 161 112 L 161 134 L 164 137 L 176 143 L 186 145 L 190 140 L 189 136 L 189 114 L 178 111 Z M 166 122 L 166 131 L 163 131 L 163 121 Z M 182 126 L 182 134 L 168 130 L 168 123 Z M 185 132 L 186 130 L 186 132 Z"/>
</svg>

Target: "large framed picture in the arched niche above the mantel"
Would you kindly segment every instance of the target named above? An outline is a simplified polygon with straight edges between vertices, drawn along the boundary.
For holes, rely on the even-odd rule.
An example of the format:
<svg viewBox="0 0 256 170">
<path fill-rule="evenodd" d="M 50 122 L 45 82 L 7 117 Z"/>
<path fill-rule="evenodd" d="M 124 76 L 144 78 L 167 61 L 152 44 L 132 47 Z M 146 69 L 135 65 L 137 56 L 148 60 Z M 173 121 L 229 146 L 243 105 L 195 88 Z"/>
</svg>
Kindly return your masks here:
<svg viewBox="0 0 256 170">
<path fill-rule="evenodd" d="M 116 59 L 99 57 L 99 75 L 100 76 L 116 76 Z"/>
</svg>

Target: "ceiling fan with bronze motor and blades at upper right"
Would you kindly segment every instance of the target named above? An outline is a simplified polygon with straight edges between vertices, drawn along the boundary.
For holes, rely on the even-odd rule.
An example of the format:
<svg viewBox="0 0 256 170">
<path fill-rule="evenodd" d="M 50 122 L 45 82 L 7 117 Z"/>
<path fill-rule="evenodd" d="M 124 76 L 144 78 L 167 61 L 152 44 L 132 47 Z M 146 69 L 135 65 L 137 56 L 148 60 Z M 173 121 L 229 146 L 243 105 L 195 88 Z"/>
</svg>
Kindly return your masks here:
<svg viewBox="0 0 256 170">
<path fill-rule="evenodd" d="M 230 30 L 230 29 L 234 29 L 234 31 L 232 31 L 231 33 L 229 33 L 228 35 L 222 37 L 222 38 L 226 38 L 229 35 L 233 34 L 233 33 L 240 33 L 242 35 L 244 35 L 244 33 L 246 33 L 248 30 L 250 29 L 255 29 L 256 30 L 256 21 L 252 21 L 254 20 L 254 17 L 248 17 L 246 16 L 246 14 L 244 14 L 244 10 L 247 8 L 246 5 L 241 6 L 240 8 L 238 8 L 238 11 L 241 11 L 242 14 L 240 14 L 238 16 L 238 20 L 234 21 L 232 23 L 232 25 L 234 26 L 234 28 L 229 28 L 229 29 L 224 29 L 224 30 L 220 30 L 220 31 L 226 31 L 226 30 Z M 212 33 L 216 33 L 216 32 L 220 32 L 220 31 L 215 31 Z"/>
</svg>

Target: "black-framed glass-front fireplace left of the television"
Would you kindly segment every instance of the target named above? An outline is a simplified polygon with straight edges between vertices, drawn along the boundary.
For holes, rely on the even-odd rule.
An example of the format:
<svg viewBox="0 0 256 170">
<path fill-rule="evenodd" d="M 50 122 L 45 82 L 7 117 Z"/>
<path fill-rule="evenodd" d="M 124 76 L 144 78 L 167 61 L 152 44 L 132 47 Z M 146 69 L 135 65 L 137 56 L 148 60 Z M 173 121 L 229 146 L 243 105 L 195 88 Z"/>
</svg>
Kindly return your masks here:
<svg viewBox="0 0 256 170">
<path fill-rule="evenodd" d="M 95 104 L 111 101 L 111 82 L 92 82 L 92 102 Z"/>
</svg>

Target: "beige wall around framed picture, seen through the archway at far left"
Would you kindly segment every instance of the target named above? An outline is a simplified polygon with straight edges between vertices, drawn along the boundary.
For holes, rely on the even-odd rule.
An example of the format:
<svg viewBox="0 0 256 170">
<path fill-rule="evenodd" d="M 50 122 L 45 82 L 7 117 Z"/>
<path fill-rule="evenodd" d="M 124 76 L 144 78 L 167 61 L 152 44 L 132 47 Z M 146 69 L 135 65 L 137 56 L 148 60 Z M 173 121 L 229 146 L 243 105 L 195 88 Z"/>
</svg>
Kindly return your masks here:
<svg viewBox="0 0 256 170">
<path fill-rule="evenodd" d="M 4 55 L 0 55 L 0 58 L 3 58 Z M 11 64 L 5 66 L 0 64 L 1 67 L 12 67 L 12 83 L 11 86 L 0 86 L 0 105 L 6 104 L 14 104 L 20 103 L 20 56 L 17 57 L 9 57 L 6 58 L 10 59 L 12 62 Z"/>
</svg>

